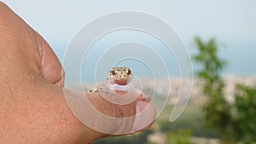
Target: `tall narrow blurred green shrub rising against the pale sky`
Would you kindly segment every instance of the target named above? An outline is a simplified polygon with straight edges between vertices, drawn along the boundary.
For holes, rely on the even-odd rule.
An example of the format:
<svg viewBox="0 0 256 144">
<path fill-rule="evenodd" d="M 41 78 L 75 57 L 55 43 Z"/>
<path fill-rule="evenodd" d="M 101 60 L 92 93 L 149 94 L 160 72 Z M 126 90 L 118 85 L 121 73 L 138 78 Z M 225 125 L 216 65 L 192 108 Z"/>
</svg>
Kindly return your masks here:
<svg viewBox="0 0 256 144">
<path fill-rule="evenodd" d="M 203 93 L 208 100 L 203 107 L 207 122 L 217 128 L 221 135 L 227 136 L 229 129 L 226 126 L 230 123 L 230 105 L 224 98 L 224 81 L 219 76 L 225 61 L 218 58 L 218 46 L 214 39 L 204 43 L 196 37 L 195 44 L 198 54 L 194 56 L 194 60 L 202 65 L 197 76 L 203 81 Z"/>
</svg>

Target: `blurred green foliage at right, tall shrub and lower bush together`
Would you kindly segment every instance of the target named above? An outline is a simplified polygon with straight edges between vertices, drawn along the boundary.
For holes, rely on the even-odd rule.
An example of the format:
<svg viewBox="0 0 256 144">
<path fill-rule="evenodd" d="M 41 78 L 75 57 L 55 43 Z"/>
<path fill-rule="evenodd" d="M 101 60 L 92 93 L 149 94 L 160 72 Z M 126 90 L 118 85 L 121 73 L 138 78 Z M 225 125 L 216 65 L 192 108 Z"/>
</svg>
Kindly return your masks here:
<svg viewBox="0 0 256 144">
<path fill-rule="evenodd" d="M 198 54 L 194 60 L 202 68 L 196 74 L 203 82 L 207 102 L 203 107 L 207 123 L 218 130 L 224 143 L 252 143 L 256 140 L 256 88 L 236 86 L 235 103 L 224 98 L 224 81 L 220 72 L 225 61 L 218 58 L 218 45 L 212 38 L 204 43 L 195 37 Z"/>
</svg>

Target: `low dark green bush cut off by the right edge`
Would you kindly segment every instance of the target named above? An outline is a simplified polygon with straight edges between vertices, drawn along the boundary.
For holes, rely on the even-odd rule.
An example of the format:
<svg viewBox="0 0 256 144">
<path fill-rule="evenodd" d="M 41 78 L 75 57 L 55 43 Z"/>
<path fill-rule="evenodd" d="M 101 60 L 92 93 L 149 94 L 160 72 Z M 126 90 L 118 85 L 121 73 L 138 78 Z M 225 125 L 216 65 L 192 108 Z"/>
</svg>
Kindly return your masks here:
<svg viewBox="0 0 256 144">
<path fill-rule="evenodd" d="M 256 142 L 256 87 L 236 86 L 234 122 L 237 141 Z"/>
</svg>

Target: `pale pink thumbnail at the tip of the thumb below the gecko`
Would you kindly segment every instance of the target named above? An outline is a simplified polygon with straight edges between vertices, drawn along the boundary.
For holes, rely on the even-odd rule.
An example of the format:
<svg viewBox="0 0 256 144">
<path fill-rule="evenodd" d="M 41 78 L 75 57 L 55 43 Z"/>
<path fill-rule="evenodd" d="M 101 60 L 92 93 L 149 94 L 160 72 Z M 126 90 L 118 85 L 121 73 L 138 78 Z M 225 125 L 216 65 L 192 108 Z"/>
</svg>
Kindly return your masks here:
<svg viewBox="0 0 256 144">
<path fill-rule="evenodd" d="M 136 117 L 133 123 L 132 130 L 143 130 L 154 121 L 155 110 L 152 104 L 147 101 L 138 101 L 136 106 Z"/>
</svg>

